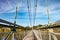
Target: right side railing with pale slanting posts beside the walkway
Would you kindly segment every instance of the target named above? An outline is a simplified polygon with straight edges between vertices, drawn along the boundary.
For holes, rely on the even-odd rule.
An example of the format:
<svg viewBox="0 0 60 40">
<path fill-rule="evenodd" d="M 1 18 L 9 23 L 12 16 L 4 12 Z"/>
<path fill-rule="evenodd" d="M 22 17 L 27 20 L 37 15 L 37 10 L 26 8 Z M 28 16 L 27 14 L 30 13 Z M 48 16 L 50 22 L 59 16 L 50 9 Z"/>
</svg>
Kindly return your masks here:
<svg viewBox="0 0 60 40">
<path fill-rule="evenodd" d="M 52 32 L 50 32 L 49 30 L 48 31 L 46 31 L 46 30 L 48 30 L 48 29 L 40 31 L 42 40 L 60 40 L 60 32 L 57 32 L 54 29 L 53 29 L 53 31 L 49 29 Z M 58 30 L 60 30 L 60 29 L 58 29 Z"/>
</svg>

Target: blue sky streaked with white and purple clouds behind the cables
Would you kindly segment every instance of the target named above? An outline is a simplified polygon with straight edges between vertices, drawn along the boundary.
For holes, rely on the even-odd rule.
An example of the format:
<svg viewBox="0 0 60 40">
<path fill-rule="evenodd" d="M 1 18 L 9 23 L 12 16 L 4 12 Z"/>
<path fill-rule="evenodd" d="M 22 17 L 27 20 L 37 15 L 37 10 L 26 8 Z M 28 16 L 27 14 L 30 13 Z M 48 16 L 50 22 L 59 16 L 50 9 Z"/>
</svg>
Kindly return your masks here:
<svg viewBox="0 0 60 40">
<path fill-rule="evenodd" d="M 17 13 L 17 24 L 22 26 L 29 26 L 29 15 L 27 9 L 26 0 L 18 1 L 18 13 Z M 31 3 L 31 19 L 34 14 L 34 0 L 30 0 Z M 0 19 L 4 19 L 10 22 L 14 22 L 15 13 L 15 0 L 0 0 Z M 50 23 L 60 20 L 60 0 L 48 0 L 48 8 L 50 14 Z M 46 14 L 46 0 L 38 0 L 37 3 L 37 15 L 36 24 L 47 24 Z M 33 25 L 33 20 L 32 20 Z"/>
</svg>

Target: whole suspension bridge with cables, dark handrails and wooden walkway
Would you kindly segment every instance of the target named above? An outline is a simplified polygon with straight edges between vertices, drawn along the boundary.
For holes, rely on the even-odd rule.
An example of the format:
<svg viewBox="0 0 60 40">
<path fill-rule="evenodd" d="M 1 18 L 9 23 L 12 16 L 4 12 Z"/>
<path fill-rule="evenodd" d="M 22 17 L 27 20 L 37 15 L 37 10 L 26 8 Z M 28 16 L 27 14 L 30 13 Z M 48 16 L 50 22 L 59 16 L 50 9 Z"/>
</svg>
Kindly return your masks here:
<svg viewBox="0 0 60 40">
<path fill-rule="evenodd" d="M 31 2 L 27 0 L 27 9 L 29 15 L 29 25 L 31 28 L 25 28 L 16 24 L 18 14 L 18 0 L 16 0 L 16 8 L 14 13 L 14 23 L 0 19 L 0 40 L 60 40 L 60 33 L 54 32 L 54 29 L 60 28 L 60 25 L 50 26 L 50 15 L 48 8 L 48 0 L 46 0 L 46 14 L 48 24 L 45 27 L 34 29 L 36 24 L 38 0 L 34 0 L 33 25 L 31 19 Z M 2 24 L 3 23 L 3 24 Z"/>
</svg>

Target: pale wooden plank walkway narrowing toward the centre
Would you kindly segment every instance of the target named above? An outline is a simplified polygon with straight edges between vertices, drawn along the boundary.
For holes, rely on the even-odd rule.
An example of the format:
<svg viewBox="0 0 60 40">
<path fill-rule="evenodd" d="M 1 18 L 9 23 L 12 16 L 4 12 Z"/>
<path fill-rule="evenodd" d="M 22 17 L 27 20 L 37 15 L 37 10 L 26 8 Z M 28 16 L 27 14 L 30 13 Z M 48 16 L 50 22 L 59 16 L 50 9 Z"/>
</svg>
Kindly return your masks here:
<svg viewBox="0 0 60 40">
<path fill-rule="evenodd" d="M 39 31 L 37 30 L 31 30 L 27 36 L 24 37 L 23 40 L 42 40 L 41 35 L 38 33 Z"/>
</svg>

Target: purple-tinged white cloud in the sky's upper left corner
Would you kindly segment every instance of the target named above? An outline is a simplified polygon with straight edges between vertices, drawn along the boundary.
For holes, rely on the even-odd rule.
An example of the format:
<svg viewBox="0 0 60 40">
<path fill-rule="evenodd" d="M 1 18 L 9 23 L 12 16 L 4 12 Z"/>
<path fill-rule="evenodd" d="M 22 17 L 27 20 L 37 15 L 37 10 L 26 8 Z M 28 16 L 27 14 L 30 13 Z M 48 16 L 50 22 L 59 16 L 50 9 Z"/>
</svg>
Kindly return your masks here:
<svg viewBox="0 0 60 40">
<path fill-rule="evenodd" d="M 5 3 L 3 3 L 3 2 L 1 2 L 1 9 L 0 9 L 0 13 L 5 13 L 5 12 L 7 12 L 7 11 L 11 11 L 11 10 L 13 10 L 15 7 L 14 7 L 14 5 L 13 4 L 11 4 L 11 2 L 9 1 L 9 2 L 5 2 Z"/>
</svg>

